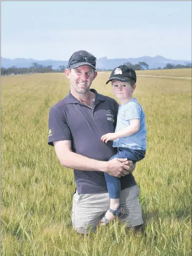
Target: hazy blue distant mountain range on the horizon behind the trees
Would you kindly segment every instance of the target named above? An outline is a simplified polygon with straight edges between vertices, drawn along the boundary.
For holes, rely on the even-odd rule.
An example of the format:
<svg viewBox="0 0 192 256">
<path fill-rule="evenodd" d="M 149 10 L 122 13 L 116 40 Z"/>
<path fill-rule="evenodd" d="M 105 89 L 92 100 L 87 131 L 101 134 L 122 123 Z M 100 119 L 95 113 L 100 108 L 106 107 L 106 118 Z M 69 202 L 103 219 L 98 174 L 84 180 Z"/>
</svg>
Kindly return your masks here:
<svg viewBox="0 0 192 256">
<path fill-rule="evenodd" d="M 155 56 L 155 57 L 149 57 L 149 56 L 143 56 L 139 58 L 128 58 L 128 59 L 107 59 L 107 57 L 103 57 L 100 59 L 97 59 L 97 68 L 98 69 L 114 69 L 114 67 L 124 64 L 125 62 L 130 62 L 131 64 L 136 64 L 138 62 L 146 62 L 149 65 L 149 69 L 157 69 L 157 67 L 164 67 L 167 63 L 171 63 L 174 65 L 181 64 L 181 65 L 187 65 L 188 63 L 191 63 L 191 60 L 170 60 L 166 59 L 162 56 Z M 35 59 L 7 59 L 1 57 L 1 66 L 2 67 L 30 67 L 32 65 L 32 62 L 37 62 L 39 64 L 42 64 L 44 66 L 52 65 L 53 69 L 57 69 L 60 65 L 67 66 L 68 61 L 66 60 L 35 60 Z"/>
</svg>

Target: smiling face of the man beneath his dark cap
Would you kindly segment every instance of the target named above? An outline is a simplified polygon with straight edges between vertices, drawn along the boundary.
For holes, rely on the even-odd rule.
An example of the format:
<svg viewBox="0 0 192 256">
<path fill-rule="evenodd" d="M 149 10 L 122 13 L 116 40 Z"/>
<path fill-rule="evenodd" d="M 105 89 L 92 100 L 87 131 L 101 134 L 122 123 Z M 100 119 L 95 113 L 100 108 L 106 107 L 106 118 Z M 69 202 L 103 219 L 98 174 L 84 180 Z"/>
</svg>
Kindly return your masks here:
<svg viewBox="0 0 192 256">
<path fill-rule="evenodd" d="M 70 80 L 71 90 L 84 94 L 89 91 L 92 81 L 97 76 L 97 71 L 94 72 L 90 66 L 80 66 L 71 71 L 66 69 L 65 74 Z"/>
</svg>

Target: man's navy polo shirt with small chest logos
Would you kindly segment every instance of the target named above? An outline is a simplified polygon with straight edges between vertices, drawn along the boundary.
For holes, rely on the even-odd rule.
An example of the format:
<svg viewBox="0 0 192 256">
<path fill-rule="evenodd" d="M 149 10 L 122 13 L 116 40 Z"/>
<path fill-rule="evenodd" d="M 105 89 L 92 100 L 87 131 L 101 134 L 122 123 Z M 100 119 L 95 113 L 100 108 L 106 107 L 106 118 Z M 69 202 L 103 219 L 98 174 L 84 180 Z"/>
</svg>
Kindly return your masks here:
<svg viewBox="0 0 192 256">
<path fill-rule="evenodd" d="M 112 147 L 112 141 L 107 144 L 102 142 L 101 136 L 114 132 L 119 105 L 113 98 L 101 95 L 94 89 L 91 91 L 95 93 L 92 109 L 74 98 L 70 92 L 51 107 L 48 144 L 53 146 L 53 141 L 70 140 L 72 152 L 108 161 L 116 153 L 116 148 Z M 74 178 L 80 194 L 108 192 L 103 172 L 74 170 Z M 122 190 L 136 184 L 132 174 L 120 180 Z"/>
</svg>

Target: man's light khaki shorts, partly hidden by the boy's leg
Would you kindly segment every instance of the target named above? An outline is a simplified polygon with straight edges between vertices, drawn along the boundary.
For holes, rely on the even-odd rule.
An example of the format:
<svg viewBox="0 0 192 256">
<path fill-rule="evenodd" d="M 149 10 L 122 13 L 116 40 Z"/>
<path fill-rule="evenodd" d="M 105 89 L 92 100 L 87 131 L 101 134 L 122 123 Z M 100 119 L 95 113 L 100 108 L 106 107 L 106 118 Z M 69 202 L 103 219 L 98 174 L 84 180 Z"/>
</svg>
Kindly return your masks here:
<svg viewBox="0 0 192 256">
<path fill-rule="evenodd" d="M 120 204 L 125 211 L 122 220 L 127 227 L 143 224 L 141 206 L 139 203 L 139 187 L 133 185 L 121 191 Z M 73 195 L 72 226 L 78 233 L 86 234 L 89 227 L 97 229 L 99 220 L 104 216 L 110 204 L 109 194 L 78 194 Z"/>
</svg>

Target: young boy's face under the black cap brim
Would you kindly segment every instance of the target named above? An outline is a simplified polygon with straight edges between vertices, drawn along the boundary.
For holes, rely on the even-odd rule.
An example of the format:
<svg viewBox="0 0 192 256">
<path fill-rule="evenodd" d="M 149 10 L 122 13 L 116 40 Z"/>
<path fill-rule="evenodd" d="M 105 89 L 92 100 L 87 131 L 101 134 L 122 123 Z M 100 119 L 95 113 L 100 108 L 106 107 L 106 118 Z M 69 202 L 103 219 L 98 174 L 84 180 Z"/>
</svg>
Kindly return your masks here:
<svg viewBox="0 0 192 256">
<path fill-rule="evenodd" d="M 132 93 L 136 89 L 136 84 L 132 87 L 129 82 L 121 82 L 118 80 L 112 80 L 112 92 L 119 99 L 129 99 L 132 97 Z"/>
</svg>

